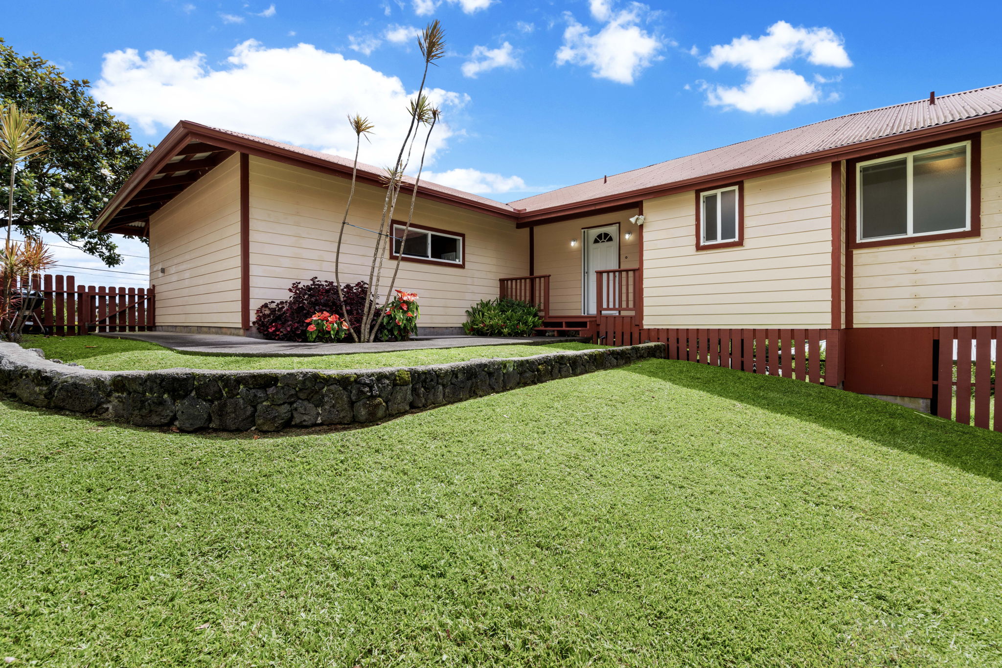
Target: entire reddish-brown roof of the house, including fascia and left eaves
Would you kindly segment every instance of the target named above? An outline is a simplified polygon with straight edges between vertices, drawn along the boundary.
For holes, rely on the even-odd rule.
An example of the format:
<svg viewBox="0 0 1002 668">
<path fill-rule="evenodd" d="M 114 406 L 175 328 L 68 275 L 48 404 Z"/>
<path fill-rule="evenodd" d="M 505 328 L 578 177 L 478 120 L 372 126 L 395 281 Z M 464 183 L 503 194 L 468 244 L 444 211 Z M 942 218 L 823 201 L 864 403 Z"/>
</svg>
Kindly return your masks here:
<svg viewBox="0 0 1002 668">
<path fill-rule="evenodd" d="M 878 144 L 893 147 L 895 143 L 918 140 L 920 135 L 956 135 L 972 131 L 969 128 L 976 130 L 995 124 L 1002 124 L 1002 84 L 941 95 L 936 98 L 935 104 L 923 99 L 839 116 L 509 203 L 427 180 L 421 181 L 419 196 L 423 193 L 431 199 L 515 220 L 522 226 L 558 216 L 572 217 L 603 206 L 633 205 L 643 198 L 658 196 L 673 188 L 698 187 L 714 178 L 718 181 L 724 178 L 737 180 L 757 170 L 794 169 L 798 164 L 843 159 L 853 151 L 872 153 L 878 150 Z M 310 168 L 351 174 L 352 160 L 349 158 L 242 132 L 180 121 L 111 198 L 95 225 L 104 229 L 121 212 L 124 217 L 120 220 L 116 218 L 117 222 L 112 227 L 124 226 L 130 232 L 143 227 L 148 215 L 142 214 L 157 208 L 162 202 L 131 204 L 131 199 L 137 194 L 144 194 L 144 186 L 153 188 L 160 180 L 166 180 L 162 179 L 162 174 L 157 174 L 157 169 L 162 171 L 164 165 L 169 165 L 168 160 L 177 160 L 171 156 L 183 154 L 183 147 L 189 140 L 218 144 L 228 151 L 257 151 L 273 159 L 292 159 L 294 163 L 303 162 Z M 191 164 L 200 163 L 195 161 Z M 378 167 L 359 163 L 360 180 L 378 183 L 382 173 L 383 170 Z M 405 177 L 405 182 L 413 185 L 414 179 Z"/>
</svg>

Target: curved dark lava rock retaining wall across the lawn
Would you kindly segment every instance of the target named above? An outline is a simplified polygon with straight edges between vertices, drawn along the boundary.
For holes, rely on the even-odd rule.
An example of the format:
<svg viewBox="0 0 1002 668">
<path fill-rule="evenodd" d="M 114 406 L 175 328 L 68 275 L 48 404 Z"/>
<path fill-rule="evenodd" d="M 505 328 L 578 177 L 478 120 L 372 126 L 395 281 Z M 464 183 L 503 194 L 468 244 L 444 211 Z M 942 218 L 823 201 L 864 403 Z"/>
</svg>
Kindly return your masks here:
<svg viewBox="0 0 1002 668">
<path fill-rule="evenodd" d="M 277 432 L 375 423 L 554 379 L 664 357 L 662 344 L 366 371 L 101 372 L 0 344 L 0 395 L 138 427 Z"/>
</svg>

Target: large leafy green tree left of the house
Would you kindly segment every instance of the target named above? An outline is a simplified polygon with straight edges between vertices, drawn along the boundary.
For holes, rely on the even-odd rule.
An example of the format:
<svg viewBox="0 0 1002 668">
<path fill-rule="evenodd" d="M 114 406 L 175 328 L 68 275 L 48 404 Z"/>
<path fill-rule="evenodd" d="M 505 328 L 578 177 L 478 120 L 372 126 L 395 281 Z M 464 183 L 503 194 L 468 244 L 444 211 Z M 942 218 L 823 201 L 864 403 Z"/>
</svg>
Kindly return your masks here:
<svg viewBox="0 0 1002 668">
<path fill-rule="evenodd" d="M 51 232 L 106 264 L 121 262 L 110 234 L 90 227 L 111 195 L 146 157 L 128 124 L 90 96 L 86 79 L 67 79 L 37 54 L 22 56 L 0 39 L 0 107 L 16 104 L 41 126 L 44 153 L 22 162 L 13 224 L 25 235 Z M 10 162 L 0 183 L 11 182 Z M 6 193 L 5 193 L 6 194 Z M 10 209 L 8 197 L 0 206 Z M 11 211 L 4 210 L 3 221 Z"/>
</svg>

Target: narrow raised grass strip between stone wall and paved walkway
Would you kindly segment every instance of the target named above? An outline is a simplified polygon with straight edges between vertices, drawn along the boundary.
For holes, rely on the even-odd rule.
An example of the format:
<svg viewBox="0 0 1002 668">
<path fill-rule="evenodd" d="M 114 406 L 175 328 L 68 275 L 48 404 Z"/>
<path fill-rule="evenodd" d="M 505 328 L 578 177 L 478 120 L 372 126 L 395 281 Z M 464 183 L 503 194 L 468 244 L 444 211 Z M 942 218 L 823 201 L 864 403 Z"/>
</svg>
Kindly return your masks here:
<svg viewBox="0 0 1002 668">
<path fill-rule="evenodd" d="M 141 341 L 106 337 L 24 338 L 24 348 L 40 348 L 49 360 L 76 362 L 86 369 L 107 372 L 155 371 L 158 369 L 379 369 L 465 362 L 477 358 L 528 358 L 561 351 L 588 351 L 605 346 L 563 343 L 543 345 L 472 346 L 394 353 L 349 353 L 317 357 L 240 358 L 190 355 Z M 308 347 L 304 344 L 304 347 Z"/>
</svg>

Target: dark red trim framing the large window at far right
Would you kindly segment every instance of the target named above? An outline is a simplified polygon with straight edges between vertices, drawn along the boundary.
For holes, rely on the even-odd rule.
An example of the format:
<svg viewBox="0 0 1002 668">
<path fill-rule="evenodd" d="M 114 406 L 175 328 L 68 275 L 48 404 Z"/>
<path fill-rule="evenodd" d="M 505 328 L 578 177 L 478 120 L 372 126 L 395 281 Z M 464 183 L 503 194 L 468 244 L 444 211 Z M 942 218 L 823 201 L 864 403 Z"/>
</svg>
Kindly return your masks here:
<svg viewBox="0 0 1002 668">
<path fill-rule="evenodd" d="M 959 144 L 962 141 L 971 142 L 971 228 L 959 232 L 943 232 L 942 234 L 925 234 L 922 236 L 899 236 L 893 239 L 874 239 L 872 241 L 857 240 L 857 202 L 856 191 L 858 187 L 858 175 L 856 167 L 860 162 L 876 160 L 902 153 L 914 153 L 915 151 L 927 148 L 936 148 L 947 144 Z M 981 133 L 966 134 L 960 137 L 952 137 L 948 140 L 931 141 L 916 144 L 907 148 L 898 148 L 891 151 L 882 151 L 871 155 L 864 155 L 851 160 L 846 160 L 846 236 L 850 248 L 877 248 L 888 245 L 905 245 L 907 243 L 924 243 L 926 241 L 943 241 L 946 239 L 963 239 L 972 236 L 981 236 Z"/>
</svg>

